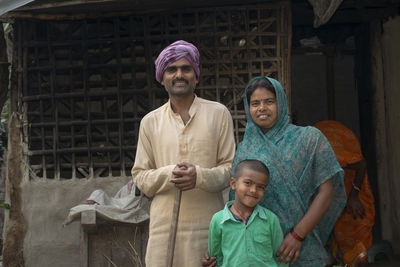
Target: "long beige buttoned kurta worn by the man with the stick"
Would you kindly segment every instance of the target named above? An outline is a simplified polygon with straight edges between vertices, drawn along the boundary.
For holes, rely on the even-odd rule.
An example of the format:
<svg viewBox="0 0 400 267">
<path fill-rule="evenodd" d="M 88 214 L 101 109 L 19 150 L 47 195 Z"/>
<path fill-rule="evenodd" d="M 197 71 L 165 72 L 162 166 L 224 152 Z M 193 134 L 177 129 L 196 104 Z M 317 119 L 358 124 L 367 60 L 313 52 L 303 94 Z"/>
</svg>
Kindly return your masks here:
<svg viewBox="0 0 400 267">
<path fill-rule="evenodd" d="M 220 103 L 195 97 L 183 124 L 170 102 L 141 121 L 133 181 L 148 197 L 150 236 L 146 266 L 165 267 L 175 186 L 169 182 L 180 162 L 196 166 L 196 188 L 182 192 L 174 266 L 201 266 L 212 215 L 223 208 L 235 153 L 232 118 Z"/>
</svg>

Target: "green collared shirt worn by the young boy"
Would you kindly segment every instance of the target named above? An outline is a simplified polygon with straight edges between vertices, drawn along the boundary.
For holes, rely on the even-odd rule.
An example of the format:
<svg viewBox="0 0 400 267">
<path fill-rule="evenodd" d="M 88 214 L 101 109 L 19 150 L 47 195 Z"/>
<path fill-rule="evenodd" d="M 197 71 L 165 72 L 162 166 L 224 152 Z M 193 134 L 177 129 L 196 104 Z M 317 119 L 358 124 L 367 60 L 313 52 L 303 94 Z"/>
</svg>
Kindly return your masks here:
<svg viewBox="0 0 400 267">
<path fill-rule="evenodd" d="M 217 266 L 289 266 L 279 264 L 275 257 L 283 241 L 278 217 L 257 205 L 244 224 L 229 210 L 233 202 L 229 201 L 223 210 L 214 214 L 210 223 L 208 249 L 211 257 L 217 257 Z"/>
</svg>

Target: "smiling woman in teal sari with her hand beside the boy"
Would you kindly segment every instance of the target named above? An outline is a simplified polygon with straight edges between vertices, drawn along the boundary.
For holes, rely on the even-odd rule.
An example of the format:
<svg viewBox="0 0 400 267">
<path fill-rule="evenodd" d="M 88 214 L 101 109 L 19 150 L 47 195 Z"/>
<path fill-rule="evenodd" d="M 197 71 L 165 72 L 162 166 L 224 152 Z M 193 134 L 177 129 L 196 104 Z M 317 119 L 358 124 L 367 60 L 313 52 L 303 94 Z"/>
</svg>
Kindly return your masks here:
<svg viewBox="0 0 400 267">
<path fill-rule="evenodd" d="M 244 159 L 261 160 L 270 169 L 260 204 L 278 216 L 285 235 L 280 261 L 324 266 L 324 243 L 346 201 L 343 170 L 318 129 L 289 123 L 286 94 L 278 81 L 252 79 L 244 105 L 246 131 L 232 169 Z M 207 256 L 202 262 L 213 266 Z"/>
</svg>

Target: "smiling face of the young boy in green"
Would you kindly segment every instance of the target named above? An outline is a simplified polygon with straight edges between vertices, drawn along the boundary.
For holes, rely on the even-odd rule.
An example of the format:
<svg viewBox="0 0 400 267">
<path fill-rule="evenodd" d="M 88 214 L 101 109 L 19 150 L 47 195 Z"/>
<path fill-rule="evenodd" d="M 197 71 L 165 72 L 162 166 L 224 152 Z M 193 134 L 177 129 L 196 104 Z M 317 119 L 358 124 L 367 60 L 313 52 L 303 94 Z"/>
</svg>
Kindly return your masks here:
<svg viewBox="0 0 400 267">
<path fill-rule="evenodd" d="M 253 209 L 262 199 L 268 184 L 265 173 L 244 167 L 239 178 L 231 178 L 231 188 L 235 190 L 235 204 L 242 209 Z"/>
</svg>

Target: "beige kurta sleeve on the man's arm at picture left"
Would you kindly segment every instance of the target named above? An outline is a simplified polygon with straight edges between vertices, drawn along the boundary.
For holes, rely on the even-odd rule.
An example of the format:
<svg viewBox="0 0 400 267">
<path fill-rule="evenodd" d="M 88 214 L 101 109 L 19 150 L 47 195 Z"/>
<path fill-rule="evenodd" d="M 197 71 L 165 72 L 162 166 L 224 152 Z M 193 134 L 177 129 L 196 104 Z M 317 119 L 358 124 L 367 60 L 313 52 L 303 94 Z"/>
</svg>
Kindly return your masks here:
<svg viewBox="0 0 400 267">
<path fill-rule="evenodd" d="M 139 129 L 135 164 L 132 168 L 132 179 L 147 197 L 153 197 L 155 194 L 173 187 L 169 179 L 175 165 L 156 168 L 154 162 L 151 141 L 145 129 L 145 122 L 142 121 Z"/>
</svg>

